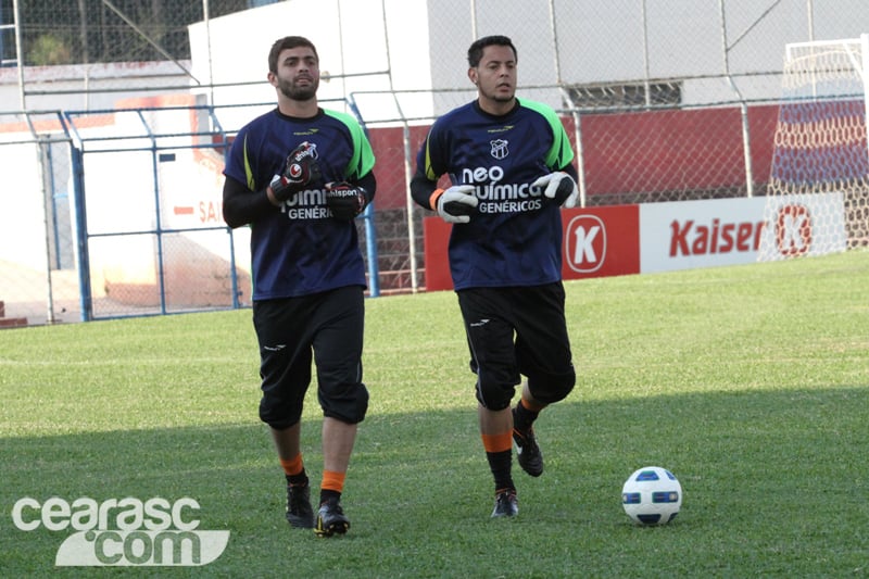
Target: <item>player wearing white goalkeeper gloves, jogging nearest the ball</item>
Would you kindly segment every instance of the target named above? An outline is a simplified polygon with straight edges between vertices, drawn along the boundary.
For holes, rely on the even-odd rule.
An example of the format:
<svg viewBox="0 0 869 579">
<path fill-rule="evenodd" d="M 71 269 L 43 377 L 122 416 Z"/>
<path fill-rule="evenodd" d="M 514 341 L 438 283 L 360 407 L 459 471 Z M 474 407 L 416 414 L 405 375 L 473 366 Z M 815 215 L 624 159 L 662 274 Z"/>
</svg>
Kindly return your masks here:
<svg viewBox="0 0 869 579">
<path fill-rule="evenodd" d="M 577 201 L 574 151 L 555 111 L 516 98 L 516 48 L 488 36 L 468 50 L 474 102 L 431 126 L 411 182 L 414 200 L 453 224 L 450 272 L 464 319 L 493 517 L 518 514 L 511 466 L 543 473 L 534 420 L 576 374 L 562 285 L 559 207 Z M 450 184 L 439 188 L 442 176 Z M 521 398 L 512 407 L 516 386 Z"/>
</svg>

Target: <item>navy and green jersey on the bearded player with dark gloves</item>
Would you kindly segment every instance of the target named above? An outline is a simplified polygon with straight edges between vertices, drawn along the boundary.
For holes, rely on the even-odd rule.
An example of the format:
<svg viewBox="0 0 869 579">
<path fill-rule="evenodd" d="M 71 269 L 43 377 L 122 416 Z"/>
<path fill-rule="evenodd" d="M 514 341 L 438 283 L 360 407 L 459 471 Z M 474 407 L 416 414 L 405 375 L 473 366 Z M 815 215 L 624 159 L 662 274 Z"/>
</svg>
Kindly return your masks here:
<svg viewBox="0 0 869 579">
<path fill-rule="evenodd" d="M 224 174 L 247 184 L 251 193 L 262 191 L 303 141 L 316 147 L 323 176 L 250 224 L 254 300 L 366 286 L 356 226 L 331 217 L 324 187 L 357 182 L 374 167 L 371 146 L 355 118 L 327 110 L 292 118 L 275 109 L 239 130 Z"/>
</svg>

